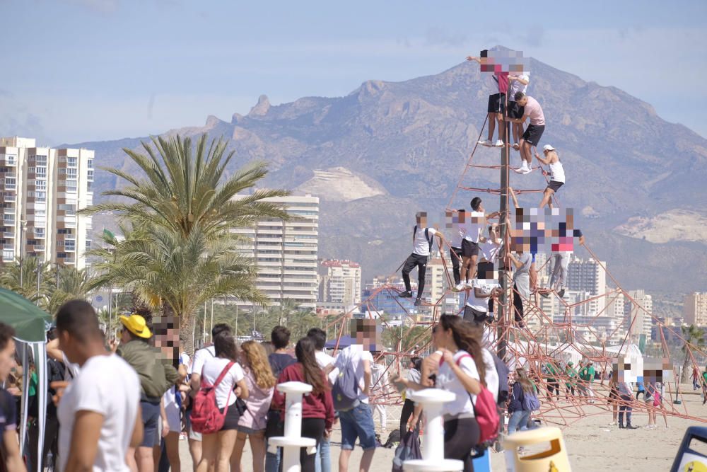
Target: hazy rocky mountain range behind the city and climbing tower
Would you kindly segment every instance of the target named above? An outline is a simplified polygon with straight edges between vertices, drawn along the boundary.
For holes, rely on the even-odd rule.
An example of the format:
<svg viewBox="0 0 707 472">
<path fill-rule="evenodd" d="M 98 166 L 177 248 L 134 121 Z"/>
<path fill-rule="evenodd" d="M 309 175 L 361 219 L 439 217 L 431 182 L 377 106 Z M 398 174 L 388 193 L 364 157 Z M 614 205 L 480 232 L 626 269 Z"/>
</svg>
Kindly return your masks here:
<svg viewBox="0 0 707 472">
<path fill-rule="evenodd" d="M 233 168 L 266 160 L 264 185 L 320 197 L 320 257 L 358 260 L 370 279 L 390 275 L 409 254 L 417 211 L 443 223 L 448 203 L 468 207 L 476 196 L 460 190 L 450 202 L 486 117 L 484 82 L 479 65 L 464 62 L 408 81 L 366 81 L 344 97 L 271 105 L 261 96 L 247 115 L 209 116 L 204 126 L 164 135 L 223 137 L 237 156 Z M 528 93 L 547 121 L 541 144 L 555 146 L 565 168 L 561 205 L 575 209 L 575 225 L 621 286 L 707 290 L 707 140 L 618 88 L 536 59 Z M 122 148 L 147 139 L 68 146 L 95 149 L 98 166 L 134 171 Z M 473 163 L 496 164 L 500 154 L 479 146 Z M 511 160 L 520 165 L 517 152 Z M 511 174 L 513 188 L 544 188 L 537 172 Z M 116 185 L 113 175 L 97 171 L 96 200 Z M 462 185 L 498 188 L 498 171 L 470 168 Z M 497 208 L 497 197 L 479 196 L 487 210 Z M 526 206 L 539 200 L 521 197 Z"/>
</svg>

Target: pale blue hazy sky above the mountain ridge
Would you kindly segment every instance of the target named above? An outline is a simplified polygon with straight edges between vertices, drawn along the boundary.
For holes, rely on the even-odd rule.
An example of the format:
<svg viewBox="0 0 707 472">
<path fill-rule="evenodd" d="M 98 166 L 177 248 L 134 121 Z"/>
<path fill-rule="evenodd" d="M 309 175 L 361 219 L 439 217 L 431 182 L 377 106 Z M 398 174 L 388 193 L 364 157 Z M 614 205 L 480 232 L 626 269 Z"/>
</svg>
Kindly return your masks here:
<svg viewBox="0 0 707 472">
<path fill-rule="evenodd" d="M 0 135 L 46 145 L 230 121 L 261 94 L 345 96 L 494 45 L 707 137 L 702 0 L 0 0 L 0 16 Z"/>
</svg>

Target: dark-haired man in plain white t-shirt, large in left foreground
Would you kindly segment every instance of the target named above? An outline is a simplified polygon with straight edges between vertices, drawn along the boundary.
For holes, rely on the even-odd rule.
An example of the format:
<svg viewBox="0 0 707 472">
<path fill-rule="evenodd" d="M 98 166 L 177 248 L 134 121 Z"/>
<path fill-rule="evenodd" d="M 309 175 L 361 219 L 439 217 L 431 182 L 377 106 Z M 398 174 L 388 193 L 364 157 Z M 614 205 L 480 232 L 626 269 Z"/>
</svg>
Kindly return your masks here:
<svg viewBox="0 0 707 472">
<path fill-rule="evenodd" d="M 129 447 L 141 443 L 140 381 L 107 352 L 93 306 L 66 302 L 57 312 L 59 349 L 80 372 L 60 394 L 59 470 L 129 472 Z"/>
</svg>

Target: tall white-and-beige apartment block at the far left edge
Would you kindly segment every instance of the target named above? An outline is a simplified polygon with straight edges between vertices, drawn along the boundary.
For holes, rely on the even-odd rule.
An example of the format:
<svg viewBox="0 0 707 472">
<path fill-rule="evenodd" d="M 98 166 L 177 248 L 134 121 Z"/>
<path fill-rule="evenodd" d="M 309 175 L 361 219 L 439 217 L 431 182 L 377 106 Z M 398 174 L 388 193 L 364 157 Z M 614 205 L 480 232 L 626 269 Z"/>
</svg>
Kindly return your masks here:
<svg viewBox="0 0 707 472">
<path fill-rule="evenodd" d="M 93 205 L 93 151 L 37 146 L 35 139 L 0 138 L 3 261 L 37 257 L 86 266 Z"/>
</svg>

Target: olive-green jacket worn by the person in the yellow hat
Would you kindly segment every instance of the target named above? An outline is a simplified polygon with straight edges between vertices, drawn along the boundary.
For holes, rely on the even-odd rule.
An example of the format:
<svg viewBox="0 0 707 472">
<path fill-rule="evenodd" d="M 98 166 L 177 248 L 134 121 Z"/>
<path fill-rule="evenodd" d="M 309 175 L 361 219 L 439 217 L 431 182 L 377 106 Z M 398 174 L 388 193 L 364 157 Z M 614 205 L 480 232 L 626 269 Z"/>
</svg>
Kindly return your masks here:
<svg viewBox="0 0 707 472">
<path fill-rule="evenodd" d="M 177 369 L 160 359 L 160 352 L 144 341 L 132 340 L 120 345 L 116 354 L 137 372 L 143 400 L 160 401 L 165 391 L 180 380 Z"/>
</svg>

